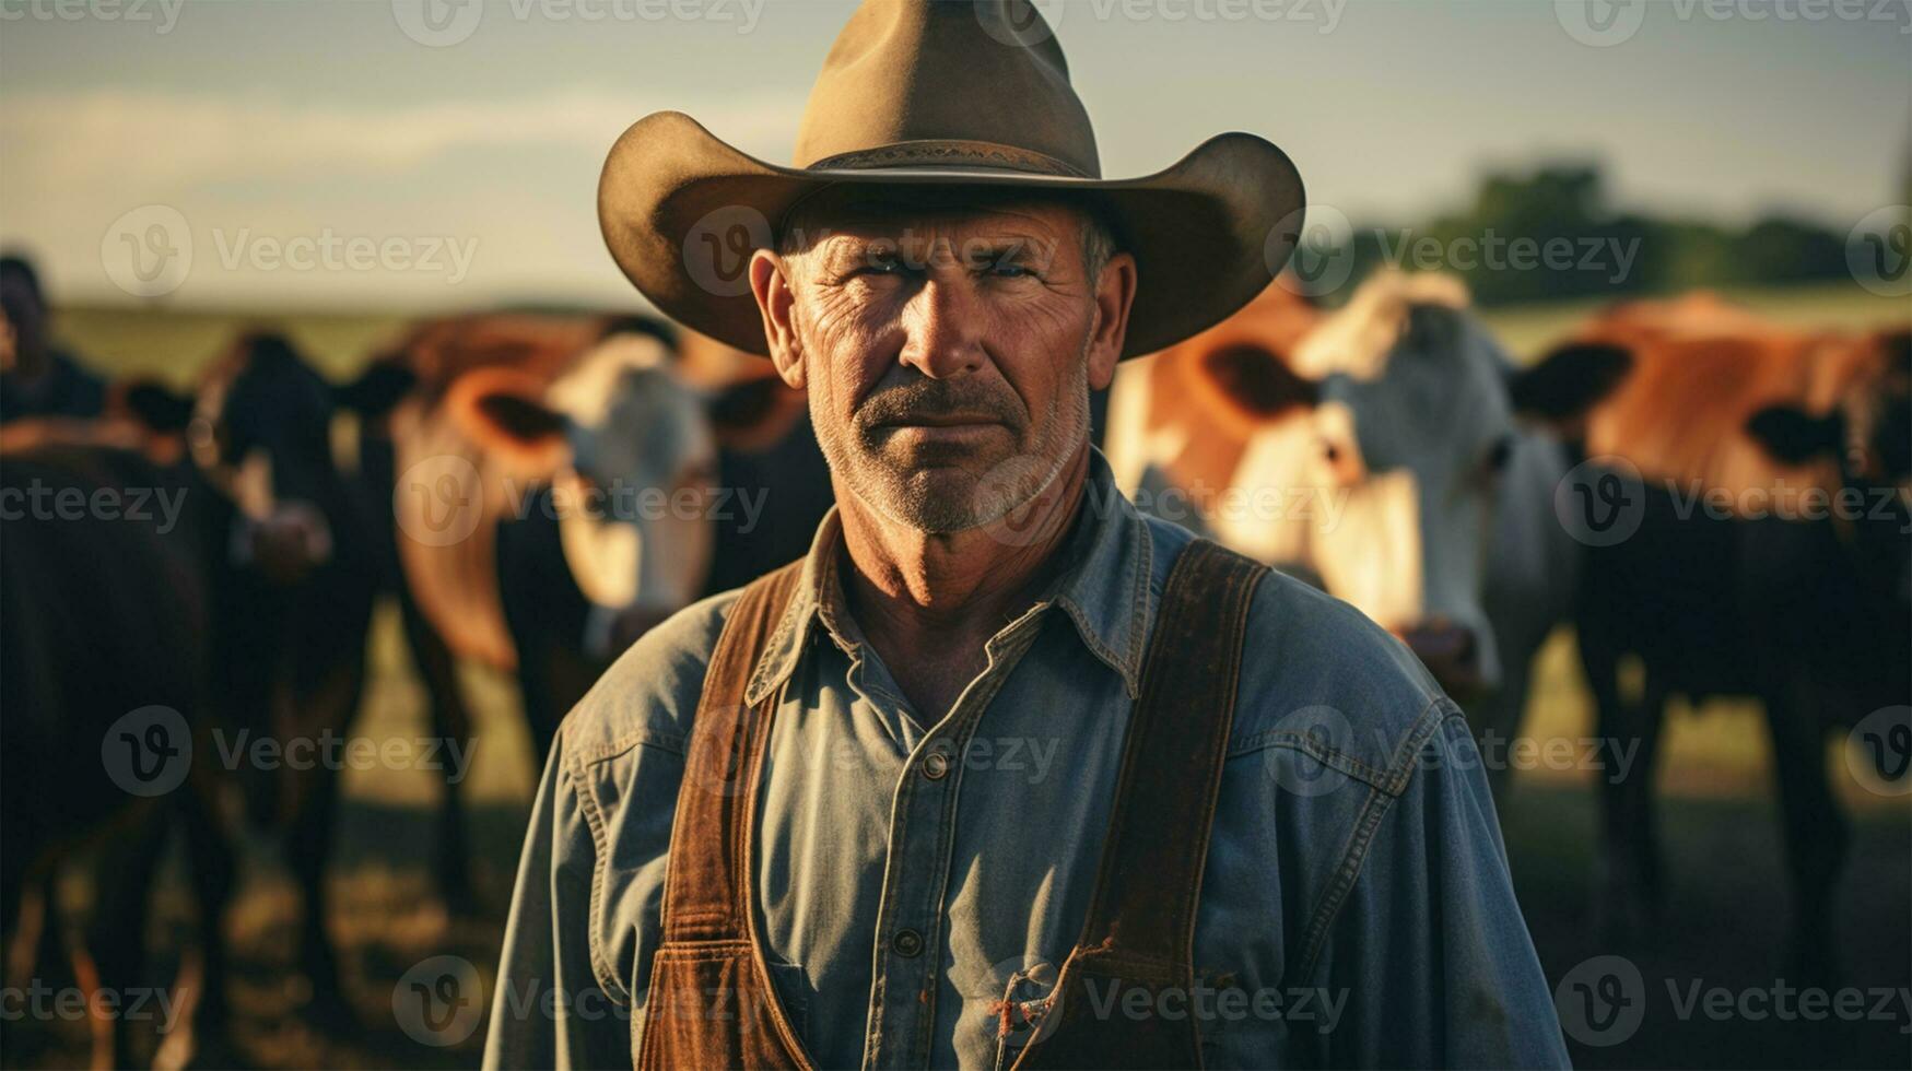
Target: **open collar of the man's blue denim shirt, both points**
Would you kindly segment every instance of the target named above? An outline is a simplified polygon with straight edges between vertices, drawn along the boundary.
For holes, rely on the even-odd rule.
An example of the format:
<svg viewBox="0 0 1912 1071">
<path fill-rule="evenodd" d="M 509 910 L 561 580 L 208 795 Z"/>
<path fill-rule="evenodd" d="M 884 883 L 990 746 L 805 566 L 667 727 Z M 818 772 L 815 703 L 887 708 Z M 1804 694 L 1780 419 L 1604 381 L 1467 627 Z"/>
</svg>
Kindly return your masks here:
<svg viewBox="0 0 1912 1071">
<path fill-rule="evenodd" d="M 858 635 L 853 622 L 839 620 L 841 545 L 843 522 L 836 507 L 830 507 L 803 558 L 790 608 L 751 673 L 744 702 L 755 706 L 782 687 L 818 625 L 839 646 L 857 643 L 849 639 Z M 1067 555 L 1071 564 L 1050 585 L 1038 608 L 1055 606 L 1067 614 L 1082 645 L 1115 669 L 1128 696 L 1136 698 L 1141 692 L 1143 641 L 1155 612 L 1149 591 L 1155 549 L 1149 524 L 1115 486 L 1115 474 L 1096 448 L 1090 448 L 1090 470 L 1075 528 L 1055 553 Z"/>
</svg>

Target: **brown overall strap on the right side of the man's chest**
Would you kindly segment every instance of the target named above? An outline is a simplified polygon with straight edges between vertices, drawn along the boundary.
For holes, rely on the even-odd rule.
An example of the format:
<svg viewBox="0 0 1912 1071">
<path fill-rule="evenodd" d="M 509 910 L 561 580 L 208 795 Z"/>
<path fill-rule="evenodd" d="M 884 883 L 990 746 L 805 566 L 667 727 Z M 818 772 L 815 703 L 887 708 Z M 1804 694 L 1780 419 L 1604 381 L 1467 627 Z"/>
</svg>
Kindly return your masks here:
<svg viewBox="0 0 1912 1071">
<path fill-rule="evenodd" d="M 1178 1017 L 1097 1017 L 1128 989 L 1195 985 L 1195 908 L 1228 757 L 1249 606 L 1268 566 L 1206 539 L 1168 574 L 1128 719 L 1122 775 L 1082 937 L 1063 964 L 1052 1016 L 1015 1067 L 1199 1067 L 1201 1033 Z M 1097 979 L 1096 1000 L 1088 979 Z M 1109 989 L 1101 989 L 1109 987 Z M 1111 1004 L 1109 994 L 1117 996 Z"/>
</svg>

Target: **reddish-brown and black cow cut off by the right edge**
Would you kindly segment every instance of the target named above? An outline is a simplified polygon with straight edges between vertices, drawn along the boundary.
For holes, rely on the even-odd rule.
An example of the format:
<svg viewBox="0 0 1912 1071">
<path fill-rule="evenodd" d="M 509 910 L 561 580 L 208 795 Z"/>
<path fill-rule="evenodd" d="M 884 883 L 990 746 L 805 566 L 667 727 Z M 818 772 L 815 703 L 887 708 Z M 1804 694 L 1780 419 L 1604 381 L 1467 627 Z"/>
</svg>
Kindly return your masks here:
<svg viewBox="0 0 1912 1071">
<path fill-rule="evenodd" d="M 1610 308 L 1570 340 L 1621 348 L 1633 369 L 1585 425 L 1606 490 L 1583 505 L 1627 528 L 1589 551 L 1575 608 L 1600 732 L 1639 750 L 1629 776 L 1602 782 L 1610 939 L 1640 939 L 1662 899 L 1652 788 L 1667 700 L 1751 696 L 1784 815 L 1788 962 L 1834 970 L 1849 838 L 1826 732 L 1912 700 L 1906 339 L 1786 329 L 1686 295 Z M 1621 687 L 1629 656 L 1637 694 Z"/>
</svg>

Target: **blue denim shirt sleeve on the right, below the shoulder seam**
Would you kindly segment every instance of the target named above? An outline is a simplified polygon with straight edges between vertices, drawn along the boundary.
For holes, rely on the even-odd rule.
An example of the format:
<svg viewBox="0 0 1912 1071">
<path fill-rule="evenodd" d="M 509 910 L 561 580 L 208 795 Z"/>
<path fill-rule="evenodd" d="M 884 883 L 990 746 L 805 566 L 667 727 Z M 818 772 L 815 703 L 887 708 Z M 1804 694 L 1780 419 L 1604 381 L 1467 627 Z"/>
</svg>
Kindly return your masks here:
<svg viewBox="0 0 1912 1071">
<path fill-rule="evenodd" d="M 1480 752 L 1449 711 L 1384 805 L 1312 985 L 1323 1063 L 1566 1067 L 1560 1019 L 1514 901 Z M 1356 843 L 1359 851 L 1359 842 Z"/>
</svg>

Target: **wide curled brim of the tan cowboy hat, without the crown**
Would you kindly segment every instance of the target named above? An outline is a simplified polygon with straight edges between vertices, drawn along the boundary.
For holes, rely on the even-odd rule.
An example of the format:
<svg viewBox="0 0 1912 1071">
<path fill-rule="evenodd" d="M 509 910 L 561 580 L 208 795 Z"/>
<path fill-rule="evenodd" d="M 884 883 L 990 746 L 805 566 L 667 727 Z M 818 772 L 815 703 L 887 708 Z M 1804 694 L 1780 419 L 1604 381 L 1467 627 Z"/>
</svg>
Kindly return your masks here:
<svg viewBox="0 0 1912 1071">
<path fill-rule="evenodd" d="M 753 249 L 792 205 L 826 186 L 1025 187 L 1092 199 L 1136 256 L 1124 358 L 1220 323 L 1275 277 L 1300 237 L 1300 172 L 1254 134 L 1220 134 L 1143 178 L 1090 180 L 994 170 L 803 170 L 742 153 L 694 119 L 660 111 L 612 145 L 598 226 L 625 277 L 665 316 L 751 354 L 769 354 L 750 293 Z"/>
</svg>

